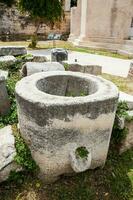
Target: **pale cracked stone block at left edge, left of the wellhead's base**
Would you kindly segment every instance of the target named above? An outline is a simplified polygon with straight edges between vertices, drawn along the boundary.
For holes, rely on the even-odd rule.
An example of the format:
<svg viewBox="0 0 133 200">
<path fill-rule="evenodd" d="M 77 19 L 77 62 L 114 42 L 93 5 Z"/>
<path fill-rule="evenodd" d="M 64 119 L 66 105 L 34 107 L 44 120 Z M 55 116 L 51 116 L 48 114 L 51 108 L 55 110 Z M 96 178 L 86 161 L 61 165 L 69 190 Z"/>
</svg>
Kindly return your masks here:
<svg viewBox="0 0 133 200">
<path fill-rule="evenodd" d="M 11 126 L 0 129 L 0 182 L 5 181 L 11 171 L 17 170 L 15 138 Z"/>
</svg>

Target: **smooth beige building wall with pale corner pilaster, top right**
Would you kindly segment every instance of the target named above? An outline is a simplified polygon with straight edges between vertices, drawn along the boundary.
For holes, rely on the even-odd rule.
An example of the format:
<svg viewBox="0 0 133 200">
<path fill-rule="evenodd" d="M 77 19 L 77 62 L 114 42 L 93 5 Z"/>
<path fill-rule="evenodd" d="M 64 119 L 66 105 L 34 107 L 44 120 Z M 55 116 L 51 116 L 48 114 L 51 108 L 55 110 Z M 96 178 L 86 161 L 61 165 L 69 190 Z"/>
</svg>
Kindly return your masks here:
<svg viewBox="0 0 133 200">
<path fill-rule="evenodd" d="M 133 17 L 132 0 L 78 0 L 78 6 L 71 12 L 71 27 L 80 27 L 78 36 L 71 28 L 70 40 L 73 42 L 74 38 L 85 45 L 86 42 L 121 44 L 128 39 Z M 78 13 L 81 13 L 80 20 L 76 19 Z"/>
</svg>

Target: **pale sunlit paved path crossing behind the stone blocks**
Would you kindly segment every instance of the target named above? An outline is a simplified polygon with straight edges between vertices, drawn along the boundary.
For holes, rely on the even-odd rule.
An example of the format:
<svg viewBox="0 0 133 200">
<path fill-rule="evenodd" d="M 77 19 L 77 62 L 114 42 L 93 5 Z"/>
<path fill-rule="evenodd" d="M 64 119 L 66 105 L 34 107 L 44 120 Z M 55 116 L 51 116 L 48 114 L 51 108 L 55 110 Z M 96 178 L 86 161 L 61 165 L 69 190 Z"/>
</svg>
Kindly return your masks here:
<svg viewBox="0 0 133 200">
<path fill-rule="evenodd" d="M 51 50 L 33 50 L 29 51 L 33 55 L 45 55 L 50 60 Z M 77 59 L 78 62 L 82 63 L 92 63 L 95 65 L 102 66 L 102 72 L 127 77 L 128 71 L 130 68 L 131 60 L 124 60 L 119 58 L 112 58 L 108 56 L 101 56 L 95 54 L 88 54 L 88 53 L 80 53 L 75 51 L 69 51 L 69 61 L 75 61 Z"/>
</svg>

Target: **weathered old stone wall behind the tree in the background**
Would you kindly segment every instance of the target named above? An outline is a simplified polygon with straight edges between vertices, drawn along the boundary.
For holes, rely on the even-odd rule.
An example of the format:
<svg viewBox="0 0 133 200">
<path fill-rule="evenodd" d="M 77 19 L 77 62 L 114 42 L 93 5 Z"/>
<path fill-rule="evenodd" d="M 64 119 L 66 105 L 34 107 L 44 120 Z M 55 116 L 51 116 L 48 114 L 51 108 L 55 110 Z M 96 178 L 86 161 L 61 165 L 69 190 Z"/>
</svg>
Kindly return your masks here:
<svg viewBox="0 0 133 200">
<path fill-rule="evenodd" d="M 45 24 L 42 24 L 38 34 L 46 35 L 50 32 L 69 33 L 70 29 L 70 12 L 65 12 L 65 19 L 59 28 L 50 30 Z M 25 38 L 26 35 L 32 35 L 35 32 L 35 26 L 28 15 L 21 14 L 15 6 L 7 8 L 0 3 L 0 37 L 8 39 L 8 35 L 12 35 L 12 39 L 17 40 Z M 14 35 L 14 38 L 13 38 Z M 6 37 L 5 37 L 6 36 Z M 10 38 L 10 36 L 9 36 Z"/>
</svg>

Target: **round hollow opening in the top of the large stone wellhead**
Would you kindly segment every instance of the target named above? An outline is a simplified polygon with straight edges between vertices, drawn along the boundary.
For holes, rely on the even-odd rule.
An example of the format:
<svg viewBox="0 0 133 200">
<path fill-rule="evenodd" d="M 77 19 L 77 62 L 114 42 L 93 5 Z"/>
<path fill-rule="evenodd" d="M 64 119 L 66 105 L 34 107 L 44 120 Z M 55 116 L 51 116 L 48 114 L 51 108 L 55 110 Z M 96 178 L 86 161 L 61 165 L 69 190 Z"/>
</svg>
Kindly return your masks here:
<svg viewBox="0 0 133 200">
<path fill-rule="evenodd" d="M 66 97 L 88 96 L 97 91 L 97 85 L 94 81 L 70 75 L 40 79 L 37 82 L 37 88 L 50 95 Z"/>
</svg>

